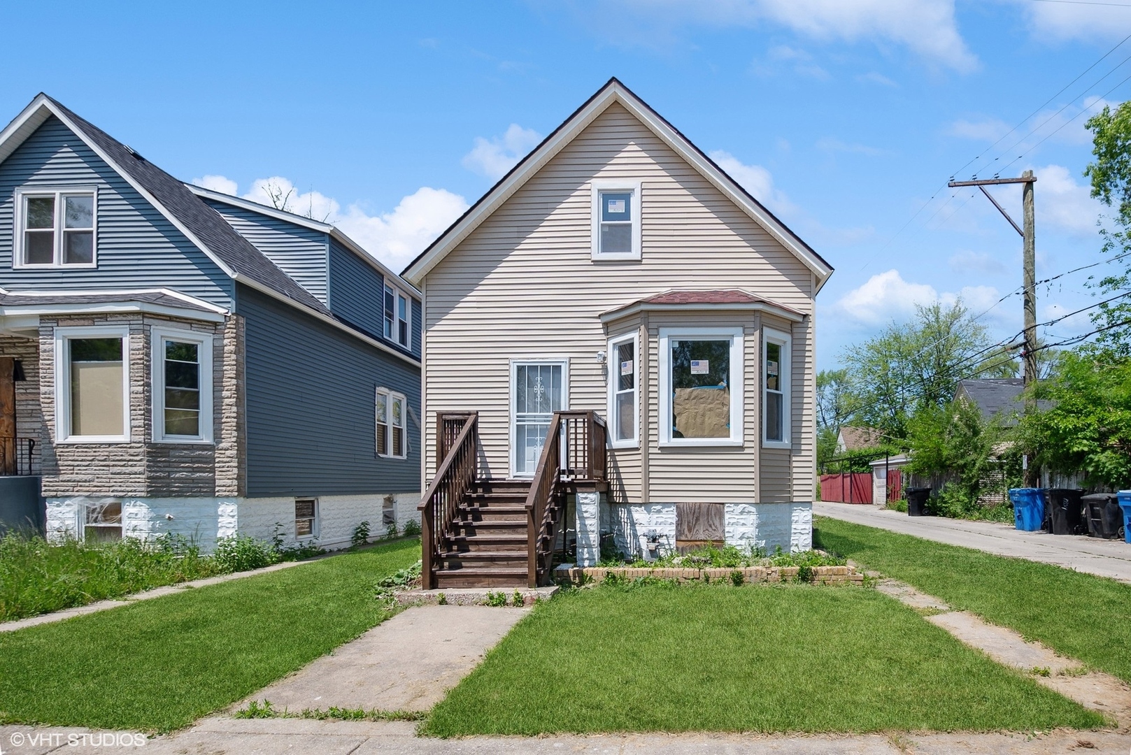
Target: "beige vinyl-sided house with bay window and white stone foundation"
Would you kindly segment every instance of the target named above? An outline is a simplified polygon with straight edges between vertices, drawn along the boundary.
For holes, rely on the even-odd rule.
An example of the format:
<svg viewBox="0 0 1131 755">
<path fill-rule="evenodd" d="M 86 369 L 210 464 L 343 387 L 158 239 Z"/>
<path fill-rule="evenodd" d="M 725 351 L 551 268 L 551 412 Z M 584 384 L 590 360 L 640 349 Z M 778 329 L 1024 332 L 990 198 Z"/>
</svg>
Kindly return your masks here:
<svg viewBox="0 0 1131 755">
<path fill-rule="evenodd" d="M 726 507 L 710 539 L 809 548 L 814 297 L 830 274 L 610 81 L 405 270 L 424 294 L 425 487 L 438 413 L 478 411 L 478 474 L 520 479 L 550 408 L 592 409 L 610 436 L 601 530 L 621 550 L 675 547 L 681 503 Z M 785 389 L 768 439 L 767 344 Z M 533 420 L 530 390 L 552 405 L 539 393 Z"/>
</svg>

